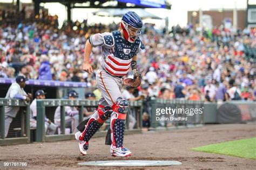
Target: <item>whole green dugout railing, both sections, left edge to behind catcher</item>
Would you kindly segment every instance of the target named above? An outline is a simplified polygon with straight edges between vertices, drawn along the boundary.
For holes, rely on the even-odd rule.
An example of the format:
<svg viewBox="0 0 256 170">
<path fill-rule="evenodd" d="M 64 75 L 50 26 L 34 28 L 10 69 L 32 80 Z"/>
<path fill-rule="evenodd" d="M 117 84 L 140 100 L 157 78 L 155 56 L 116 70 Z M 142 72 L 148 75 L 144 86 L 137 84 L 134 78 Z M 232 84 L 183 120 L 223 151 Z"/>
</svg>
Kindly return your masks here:
<svg viewBox="0 0 256 170">
<path fill-rule="evenodd" d="M 5 138 L 5 111 L 4 106 L 12 107 L 25 107 L 25 113 L 21 112 L 21 137 L 18 138 Z M 23 100 L 16 99 L 3 99 L 0 98 L 0 146 L 12 144 L 24 144 L 30 142 L 30 105 L 26 104 Z M 45 135 L 45 108 L 60 106 L 60 134 Z M 84 107 L 97 107 L 98 101 L 96 100 L 68 100 L 68 99 L 44 99 L 37 100 L 37 128 L 35 141 L 59 141 L 73 139 L 73 134 L 65 134 L 65 106 L 78 106 L 79 107 L 79 121 L 83 120 Z M 130 108 L 136 110 L 136 129 L 126 130 L 126 134 L 135 134 L 142 132 L 142 101 L 129 101 Z M 24 115 L 25 114 L 25 115 Z M 126 128 L 129 127 L 129 117 L 126 119 Z M 9 129 L 10 131 L 10 129 Z M 106 132 L 97 132 L 95 136 L 105 136 Z"/>
</svg>

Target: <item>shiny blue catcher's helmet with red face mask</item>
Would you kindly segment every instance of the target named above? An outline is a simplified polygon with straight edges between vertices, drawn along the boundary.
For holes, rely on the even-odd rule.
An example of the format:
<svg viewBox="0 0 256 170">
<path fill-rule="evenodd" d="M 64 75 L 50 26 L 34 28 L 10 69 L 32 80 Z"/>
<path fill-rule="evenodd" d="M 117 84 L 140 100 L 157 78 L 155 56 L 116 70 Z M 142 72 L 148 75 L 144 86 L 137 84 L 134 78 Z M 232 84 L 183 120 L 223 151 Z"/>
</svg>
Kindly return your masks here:
<svg viewBox="0 0 256 170">
<path fill-rule="evenodd" d="M 133 11 L 125 13 L 121 21 L 121 27 L 124 31 L 124 37 L 130 43 L 134 43 L 140 35 L 142 28 L 142 19 Z M 131 34 L 131 35 L 130 35 Z"/>
</svg>

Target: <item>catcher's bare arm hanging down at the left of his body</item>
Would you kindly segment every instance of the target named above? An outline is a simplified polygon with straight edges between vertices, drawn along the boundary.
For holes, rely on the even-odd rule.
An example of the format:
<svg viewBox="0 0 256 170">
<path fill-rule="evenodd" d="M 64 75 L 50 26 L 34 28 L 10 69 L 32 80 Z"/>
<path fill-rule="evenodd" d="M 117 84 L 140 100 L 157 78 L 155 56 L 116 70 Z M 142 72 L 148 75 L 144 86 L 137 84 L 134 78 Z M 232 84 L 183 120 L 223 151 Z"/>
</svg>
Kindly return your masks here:
<svg viewBox="0 0 256 170">
<path fill-rule="evenodd" d="M 87 40 L 84 47 L 84 64 L 83 64 L 83 70 L 87 73 L 93 73 L 92 66 L 89 63 L 90 55 L 92 52 L 92 44 L 90 43 L 90 40 Z"/>
</svg>

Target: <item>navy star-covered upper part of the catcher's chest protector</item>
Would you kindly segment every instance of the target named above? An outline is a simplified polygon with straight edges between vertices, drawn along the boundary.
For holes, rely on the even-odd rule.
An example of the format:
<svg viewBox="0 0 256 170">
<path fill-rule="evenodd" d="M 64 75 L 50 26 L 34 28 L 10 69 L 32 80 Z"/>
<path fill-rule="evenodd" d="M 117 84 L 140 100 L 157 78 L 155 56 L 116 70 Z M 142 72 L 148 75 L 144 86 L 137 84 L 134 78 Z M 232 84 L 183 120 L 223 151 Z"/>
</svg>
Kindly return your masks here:
<svg viewBox="0 0 256 170">
<path fill-rule="evenodd" d="M 114 56 L 120 59 L 129 60 L 136 55 L 140 45 L 140 39 L 137 38 L 134 43 L 129 43 L 122 38 L 120 31 L 112 32 L 114 38 Z"/>
</svg>

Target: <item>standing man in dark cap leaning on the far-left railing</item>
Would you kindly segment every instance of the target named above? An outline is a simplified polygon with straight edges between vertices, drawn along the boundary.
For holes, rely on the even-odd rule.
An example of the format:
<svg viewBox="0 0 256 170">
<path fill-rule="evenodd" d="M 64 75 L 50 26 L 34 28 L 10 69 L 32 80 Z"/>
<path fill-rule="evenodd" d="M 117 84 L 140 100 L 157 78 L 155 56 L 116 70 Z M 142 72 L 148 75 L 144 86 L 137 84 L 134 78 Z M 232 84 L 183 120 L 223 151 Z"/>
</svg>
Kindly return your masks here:
<svg viewBox="0 0 256 170">
<path fill-rule="evenodd" d="M 8 89 L 8 92 L 5 96 L 5 99 L 21 99 L 25 100 L 26 102 L 30 102 L 32 99 L 32 94 L 24 91 L 24 87 L 26 86 L 26 78 L 23 76 L 17 76 L 16 82 L 12 83 L 11 86 Z M 5 106 L 4 107 L 4 113 L 5 113 L 5 138 L 8 135 L 9 127 L 12 122 L 12 119 L 14 119 L 19 111 L 19 107 L 17 106 Z"/>
</svg>

